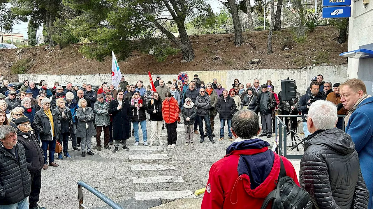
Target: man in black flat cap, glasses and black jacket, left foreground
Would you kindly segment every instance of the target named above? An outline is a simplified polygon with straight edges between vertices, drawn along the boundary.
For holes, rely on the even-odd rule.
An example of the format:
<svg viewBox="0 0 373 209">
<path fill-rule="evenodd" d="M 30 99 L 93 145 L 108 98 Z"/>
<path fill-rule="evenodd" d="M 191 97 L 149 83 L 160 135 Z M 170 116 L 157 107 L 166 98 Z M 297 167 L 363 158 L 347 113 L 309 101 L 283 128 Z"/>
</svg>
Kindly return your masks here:
<svg viewBox="0 0 373 209">
<path fill-rule="evenodd" d="M 29 196 L 29 208 L 41 209 L 38 206 L 41 189 L 41 169 L 44 165 L 43 150 L 41 149 L 35 134 L 30 133 L 30 120 L 20 117 L 15 121 L 17 125 L 18 142 L 25 148 L 26 161 L 30 166 L 31 192 Z"/>
</svg>

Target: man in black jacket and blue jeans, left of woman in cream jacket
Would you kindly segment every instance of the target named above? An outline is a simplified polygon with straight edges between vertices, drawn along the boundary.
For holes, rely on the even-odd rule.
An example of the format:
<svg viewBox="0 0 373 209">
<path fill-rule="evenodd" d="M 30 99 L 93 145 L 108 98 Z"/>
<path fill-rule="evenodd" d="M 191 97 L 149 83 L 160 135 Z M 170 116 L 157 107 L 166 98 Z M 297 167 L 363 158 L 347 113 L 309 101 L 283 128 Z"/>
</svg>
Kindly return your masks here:
<svg viewBox="0 0 373 209">
<path fill-rule="evenodd" d="M 218 141 L 222 141 L 224 139 L 224 126 L 225 120 L 228 124 L 228 137 L 229 141 L 233 142 L 233 134 L 231 132 L 232 126 L 232 117 L 233 114 L 236 112 L 237 106 L 234 99 L 229 96 L 227 90 L 223 90 L 222 96 L 217 99 L 216 107 L 217 113 L 219 113 L 220 117 L 220 139 Z"/>
</svg>

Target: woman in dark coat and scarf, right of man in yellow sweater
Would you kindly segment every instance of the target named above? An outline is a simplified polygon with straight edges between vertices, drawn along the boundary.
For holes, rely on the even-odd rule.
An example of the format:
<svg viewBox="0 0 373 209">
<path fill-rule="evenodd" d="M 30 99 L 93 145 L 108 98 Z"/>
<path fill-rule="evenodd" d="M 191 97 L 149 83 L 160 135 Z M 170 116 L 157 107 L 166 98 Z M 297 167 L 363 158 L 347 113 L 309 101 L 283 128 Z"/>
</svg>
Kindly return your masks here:
<svg viewBox="0 0 373 209">
<path fill-rule="evenodd" d="M 66 158 L 71 158 L 68 152 L 68 145 L 69 145 L 69 135 L 73 126 L 72 122 L 72 115 L 71 111 L 68 107 L 65 106 L 65 100 L 63 98 L 58 98 L 56 100 L 57 108 L 55 109 L 57 113 L 60 115 L 61 118 L 61 129 L 60 129 L 60 137 L 58 141 L 62 144 L 63 151 L 58 153 L 57 159 L 62 160 L 62 152 L 64 153 L 63 156 Z"/>
</svg>

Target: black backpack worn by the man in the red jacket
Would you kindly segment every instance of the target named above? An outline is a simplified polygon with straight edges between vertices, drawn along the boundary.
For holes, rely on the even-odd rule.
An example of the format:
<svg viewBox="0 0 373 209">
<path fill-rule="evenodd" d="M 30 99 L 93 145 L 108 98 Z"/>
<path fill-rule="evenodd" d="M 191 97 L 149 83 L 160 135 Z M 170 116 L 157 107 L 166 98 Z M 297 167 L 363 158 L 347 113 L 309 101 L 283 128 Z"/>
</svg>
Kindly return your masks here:
<svg viewBox="0 0 373 209">
<path fill-rule="evenodd" d="M 271 200 L 273 200 L 272 209 L 312 209 L 310 194 L 295 184 L 291 177 L 286 176 L 281 156 L 280 163 L 276 189 L 268 194 L 260 209 L 266 209 Z"/>
</svg>

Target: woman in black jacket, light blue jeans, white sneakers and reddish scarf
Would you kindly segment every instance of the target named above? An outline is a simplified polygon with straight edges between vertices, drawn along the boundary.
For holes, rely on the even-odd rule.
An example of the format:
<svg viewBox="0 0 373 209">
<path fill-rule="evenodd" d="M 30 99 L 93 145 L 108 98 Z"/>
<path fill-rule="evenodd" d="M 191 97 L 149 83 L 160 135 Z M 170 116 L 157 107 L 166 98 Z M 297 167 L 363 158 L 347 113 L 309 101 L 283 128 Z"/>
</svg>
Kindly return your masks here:
<svg viewBox="0 0 373 209">
<path fill-rule="evenodd" d="M 146 115 L 145 110 L 148 105 L 144 102 L 144 97 L 140 96 L 139 91 L 134 91 L 134 95 L 131 98 L 131 109 L 134 113 L 132 117 L 132 125 L 134 126 L 135 146 L 139 145 L 139 123 L 142 130 L 142 141 L 147 146 L 147 132 L 146 132 Z"/>
</svg>

